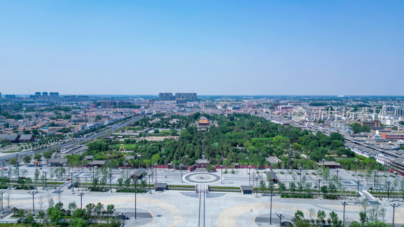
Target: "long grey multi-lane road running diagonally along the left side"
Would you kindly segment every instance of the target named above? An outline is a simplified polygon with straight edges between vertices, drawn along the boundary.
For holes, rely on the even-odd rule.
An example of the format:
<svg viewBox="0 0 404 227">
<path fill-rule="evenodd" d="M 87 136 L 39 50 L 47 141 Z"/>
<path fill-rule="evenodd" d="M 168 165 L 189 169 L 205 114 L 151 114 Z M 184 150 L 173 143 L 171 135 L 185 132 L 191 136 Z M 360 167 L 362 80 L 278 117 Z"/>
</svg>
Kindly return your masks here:
<svg viewBox="0 0 404 227">
<path fill-rule="evenodd" d="M 103 131 L 93 135 L 92 137 L 87 137 L 87 138 L 84 138 L 84 139 L 80 138 L 80 139 L 77 139 L 76 141 L 71 141 L 71 142 L 68 142 L 68 143 L 64 143 L 63 146 L 68 146 L 68 145 L 72 145 L 72 144 L 78 144 L 78 143 L 82 143 L 82 142 L 88 142 L 90 140 L 97 140 L 97 139 L 94 139 L 94 138 L 97 138 L 99 136 L 105 136 L 105 135 L 111 134 L 113 131 L 115 131 L 117 129 L 124 128 L 124 127 L 128 126 L 130 123 L 132 123 L 134 121 L 138 121 L 141 118 L 143 118 L 143 116 L 137 116 L 134 119 L 131 119 L 131 120 L 129 120 L 129 121 L 123 123 L 123 124 L 113 125 L 111 129 L 103 130 Z M 33 150 L 22 151 L 22 152 L 18 153 L 18 156 L 21 157 L 21 156 L 25 156 L 25 155 L 40 153 L 40 152 L 48 151 L 49 149 L 54 149 L 54 148 L 59 148 L 59 147 L 60 147 L 60 145 L 56 145 L 56 146 L 53 146 L 53 147 L 50 147 L 50 148 L 48 147 L 48 148 L 43 148 L 43 149 L 35 150 L 35 151 L 33 151 Z M 16 157 L 16 153 L 12 153 L 12 154 L 2 156 L 2 159 L 1 159 L 2 161 L 0 162 L 0 164 L 2 164 L 3 166 L 7 165 L 8 161 L 6 161 L 6 160 L 9 159 L 9 158 L 13 158 L 13 157 Z"/>
</svg>

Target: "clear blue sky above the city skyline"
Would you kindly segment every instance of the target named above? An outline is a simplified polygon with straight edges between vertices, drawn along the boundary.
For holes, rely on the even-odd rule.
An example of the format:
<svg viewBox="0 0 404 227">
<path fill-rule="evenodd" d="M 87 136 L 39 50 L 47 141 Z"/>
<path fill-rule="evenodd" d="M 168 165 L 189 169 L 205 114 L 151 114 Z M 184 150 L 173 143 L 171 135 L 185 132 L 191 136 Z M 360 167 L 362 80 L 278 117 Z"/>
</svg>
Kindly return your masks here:
<svg viewBox="0 0 404 227">
<path fill-rule="evenodd" d="M 0 92 L 404 95 L 403 1 L 0 1 Z"/>
</svg>

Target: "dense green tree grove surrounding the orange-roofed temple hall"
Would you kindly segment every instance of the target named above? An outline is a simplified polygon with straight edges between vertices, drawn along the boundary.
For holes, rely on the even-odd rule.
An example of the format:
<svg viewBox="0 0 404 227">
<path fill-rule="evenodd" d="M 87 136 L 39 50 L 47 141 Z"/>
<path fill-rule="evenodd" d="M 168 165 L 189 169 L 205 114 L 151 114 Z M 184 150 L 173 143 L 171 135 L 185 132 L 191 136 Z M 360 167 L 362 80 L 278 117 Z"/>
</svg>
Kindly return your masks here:
<svg viewBox="0 0 404 227">
<path fill-rule="evenodd" d="M 218 127 L 212 125 L 206 132 L 198 131 L 195 126 L 200 116 L 217 122 Z M 158 120 L 156 120 L 158 119 Z M 313 166 L 325 158 L 326 160 L 340 159 L 340 157 L 354 157 L 354 152 L 343 147 L 344 138 L 339 133 L 326 136 L 321 132 L 314 135 L 311 131 L 301 130 L 293 126 L 277 125 L 268 120 L 241 113 L 225 116 L 209 116 L 206 113 L 194 113 L 191 116 L 170 116 L 162 114 L 153 118 L 143 118 L 133 124 L 133 130 L 168 128 L 180 129 L 179 139 L 164 139 L 164 141 L 146 141 L 142 134 L 138 139 L 126 138 L 124 141 L 103 140 L 88 144 L 89 155 L 96 160 L 104 160 L 111 154 L 112 165 L 124 165 L 126 155 L 135 158 L 129 160 L 132 166 L 150 166 L 154 163 L 187 164 L 195 163 L 205 152 L 205 158 L 212 164 L 222 163 L 222 156 L 228 164 L 270 164 L 268 156 L 277 156 L 293 167 Z M 150 130 L 151 133 L 155 130 Z M 157 131 L 156 131 L 157 132 Z M 118 151 L 125 145 L 125 152 Z M 288 161 L 288 151 L 291 145 L 293 163 Z M 308 158 L 300 158 L 301 155 Z M 163 158 L 165 156 L 165 158 Z M 80 160 L 69 157 L 76 163 Z"/>
</svg>

